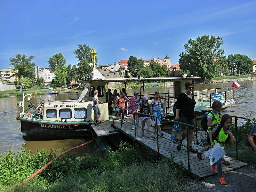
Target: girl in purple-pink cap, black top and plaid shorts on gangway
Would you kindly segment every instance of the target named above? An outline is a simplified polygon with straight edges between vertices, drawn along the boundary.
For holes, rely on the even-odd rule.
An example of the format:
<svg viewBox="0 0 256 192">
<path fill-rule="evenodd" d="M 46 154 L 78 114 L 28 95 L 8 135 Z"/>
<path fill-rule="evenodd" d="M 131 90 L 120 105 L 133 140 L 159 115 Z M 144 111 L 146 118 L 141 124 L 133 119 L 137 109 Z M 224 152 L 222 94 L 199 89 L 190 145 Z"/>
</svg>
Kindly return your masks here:
<svg viewBox="0 0 256 192">
<path fill-rule="evenodd" d="M 142 103 L 140 103 L 137 111 L 143 113 L 143 114 L 140 114 L 141 127 L 143 128 L 141 129 L 141 132 L 142 132 L 141 137 L 145 138 L 144 127 L 145 127 L 145 123 L 147 123 L 148 130 L 150 131 L 150 139 L 156 139 L 157 136 L 153 135 L 152 128 L 151 128 L 151 118 L 154 119 L 154 117 L 150 118 L 150 116 L 148 116 L 149 114 L 152 115 L 152 109 L 150 108 L 150 105 L 148 103 L 148 95 L 143 96 Z"/>
</svg>

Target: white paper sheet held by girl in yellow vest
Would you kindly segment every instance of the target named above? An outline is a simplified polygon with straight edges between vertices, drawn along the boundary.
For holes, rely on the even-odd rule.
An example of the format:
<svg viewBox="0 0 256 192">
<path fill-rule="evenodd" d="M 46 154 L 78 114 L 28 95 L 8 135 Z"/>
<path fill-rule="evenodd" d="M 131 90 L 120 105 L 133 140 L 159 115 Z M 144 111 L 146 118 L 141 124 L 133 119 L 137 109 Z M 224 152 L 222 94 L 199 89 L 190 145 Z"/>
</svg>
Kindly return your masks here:
<svg viewBox="0 0 256 192">
<path fill-rule="evenodd" d="M 207 159 L 210 161 L 210 164 L 213 165 L 225 154 L 226 152 L 223 150 L 220 144 L 217 143 L 216 145 L 214 145 L 213 148 L 206 151 L 204 156 L 206 156 Z"/>
</svg>

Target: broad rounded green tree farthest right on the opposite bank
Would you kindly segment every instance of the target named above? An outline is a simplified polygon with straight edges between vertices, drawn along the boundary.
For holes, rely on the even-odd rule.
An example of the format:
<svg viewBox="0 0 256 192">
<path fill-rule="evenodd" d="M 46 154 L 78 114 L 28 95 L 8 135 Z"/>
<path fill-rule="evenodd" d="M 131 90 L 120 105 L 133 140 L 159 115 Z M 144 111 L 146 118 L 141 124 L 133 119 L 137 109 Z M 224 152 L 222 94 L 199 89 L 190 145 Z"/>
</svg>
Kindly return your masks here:
<svg viewBox="0 0 256 192">
<path fill-rule="evenodd" d="M 253 70 L 252 60 L 246 55 L 228 55 L 228 67 L 231 73 L 250 73 Z"/>
</svg>

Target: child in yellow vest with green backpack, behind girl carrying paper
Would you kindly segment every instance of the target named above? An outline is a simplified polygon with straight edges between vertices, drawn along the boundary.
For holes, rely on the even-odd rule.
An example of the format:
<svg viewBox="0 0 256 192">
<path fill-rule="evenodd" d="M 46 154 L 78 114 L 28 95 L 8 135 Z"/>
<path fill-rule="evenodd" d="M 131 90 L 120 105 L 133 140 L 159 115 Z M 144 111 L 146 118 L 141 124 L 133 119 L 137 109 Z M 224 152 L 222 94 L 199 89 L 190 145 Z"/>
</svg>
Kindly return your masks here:
<svg viewBox="0 0 256 192">
<path fill-rule="evenodd" d="M 220 101 L 214 101 L 212 103 L 212 111 L 207 115 L 207 126 L 208 126 L 208 129 L 207 129 L 207 141 L 208 141 L 208 145 L 205 146 L 204 148 L 201 148 L 201 149 L 196 149 L 196 155 L 197 157 L 202 160 L 202 153 L 204 151 L 207 151 L 208 149 L 210 149 L 211 147 L 211 143 L 210 143 L 210 138 L 209 138 L 209 135 L 210 135 L 210 132 L 212 131 L 211 128 L 214 124 L 217 124 L 217 123 L 220 123 L 220 115 L 219 115 L 219 112 L 220 112 L 220 109 L 222 107 L 222 104 Z"/>
</svg>

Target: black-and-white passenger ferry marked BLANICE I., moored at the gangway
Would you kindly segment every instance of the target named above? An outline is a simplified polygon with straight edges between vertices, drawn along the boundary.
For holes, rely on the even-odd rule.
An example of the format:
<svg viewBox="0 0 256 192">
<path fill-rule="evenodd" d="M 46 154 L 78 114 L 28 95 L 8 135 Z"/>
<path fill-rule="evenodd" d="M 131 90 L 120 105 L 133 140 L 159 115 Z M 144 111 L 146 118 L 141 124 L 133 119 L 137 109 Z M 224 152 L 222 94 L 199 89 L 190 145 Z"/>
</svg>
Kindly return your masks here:
<svg viewBox="0 0 256 192">
<path fill-rule="evenodd" d="M 164 100 L 167 117 L 173 118 L 172 106 L 180 92 L 184 92 L 186 82 L 192 82 L 201 77 L 163 77 L 163 78 L 114 78 L 106 79 L 94 67 L 92 79 L 85 81 L 84 91 L 76 100 L 42 100 L 34 113 L 24 111 L 24 98 L 20 101 L 23 112 L 16 118 L 21 124 L 21 133 L 24 140 L 55 140 L 81 138 L 91 136 L 91 127 L 94 120 L 93 113 L 93 92 L 99 91 L 99 104 L 101 115 L 99 121 L 109 120 L 109 106 L 106 102 L 106 90 L 111 83 L 119 83 L 125 86 L 126 82 L 136 82 L 140 84 L 139 97 L 144 95 L 144 83 L 164 81 L 164 93 L 161 99 Z M 169 92 L 169 83 L 173 82 L 173 92 Z M 167 89 L 166 89 L 167 86 Z M 141 87 L 143 89 L 141 89 Z M 194 90 L 197 111 L 211 110 L 211 104 L 214 100 L 220 100 L 223 103 L 223 109 L 235 104 L 233 88 L 216 88 L 207 90 Z M 28 94 L 31 97 L 31 94 Z M 132 95 L 133 96 L 133 95 Z M 148 94 L 152 99 L 154 94 Z M 130 98 L 131 96 L 129 96 Z"/>
</svg>

